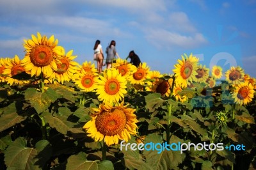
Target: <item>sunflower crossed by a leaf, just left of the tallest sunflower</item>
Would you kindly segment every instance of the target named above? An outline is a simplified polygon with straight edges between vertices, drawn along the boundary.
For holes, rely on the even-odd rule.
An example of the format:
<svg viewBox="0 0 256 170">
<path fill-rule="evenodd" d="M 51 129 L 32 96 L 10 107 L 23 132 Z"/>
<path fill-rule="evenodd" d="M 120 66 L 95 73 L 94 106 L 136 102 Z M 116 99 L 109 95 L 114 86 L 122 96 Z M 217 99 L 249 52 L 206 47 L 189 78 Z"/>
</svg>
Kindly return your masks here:
<svg viewBox="0 0 256 170">
<path fill-rule="evenodd" d="M 13 59 L 6 60 L 6 65 L 3 74 L 8 75 L 6 77 L 6 82 L 12 86 L 12 84 L 28 84 L 29 81 L 19 81 L 17 79 L 13 79 L 13 75 L 17 75 L 18 73 L 25 72 L 23 66 L 20 65 L 20 59 L 17 55 Z"/>
</svg>

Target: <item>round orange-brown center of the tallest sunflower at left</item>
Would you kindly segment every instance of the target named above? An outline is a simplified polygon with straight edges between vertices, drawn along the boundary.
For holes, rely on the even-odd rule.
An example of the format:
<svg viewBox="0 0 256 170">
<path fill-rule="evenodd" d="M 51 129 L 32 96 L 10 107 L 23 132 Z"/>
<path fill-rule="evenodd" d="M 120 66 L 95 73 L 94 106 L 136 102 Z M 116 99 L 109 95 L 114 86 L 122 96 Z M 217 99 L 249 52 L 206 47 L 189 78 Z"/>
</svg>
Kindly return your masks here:
<svg viewBox="0 0 256 170">
<path fill-rule="evenodd" d="M 47 66 L 52 62 L 52 50 L 45 45 L 37 45 L 30 51 L 30 60 L 33 65 L 42 67 Z"/>
</svg>

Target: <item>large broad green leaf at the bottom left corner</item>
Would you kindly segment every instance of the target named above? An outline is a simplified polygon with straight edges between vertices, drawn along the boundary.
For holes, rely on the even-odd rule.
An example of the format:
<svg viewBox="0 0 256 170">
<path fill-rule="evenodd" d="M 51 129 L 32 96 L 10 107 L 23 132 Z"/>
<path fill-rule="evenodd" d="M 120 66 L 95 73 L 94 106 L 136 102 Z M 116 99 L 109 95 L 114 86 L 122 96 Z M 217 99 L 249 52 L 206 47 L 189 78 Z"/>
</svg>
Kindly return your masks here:
<svg viewBox="0 0 256 170">
<path fill-rule="evenodd" d="M 4 162 L 7 169 L 42 169 L 49 157 L 48 141 L 38 141 L 34 149 L 27 147 L 24 137 L 19 137 L 8 146 Z"/>
</svg>

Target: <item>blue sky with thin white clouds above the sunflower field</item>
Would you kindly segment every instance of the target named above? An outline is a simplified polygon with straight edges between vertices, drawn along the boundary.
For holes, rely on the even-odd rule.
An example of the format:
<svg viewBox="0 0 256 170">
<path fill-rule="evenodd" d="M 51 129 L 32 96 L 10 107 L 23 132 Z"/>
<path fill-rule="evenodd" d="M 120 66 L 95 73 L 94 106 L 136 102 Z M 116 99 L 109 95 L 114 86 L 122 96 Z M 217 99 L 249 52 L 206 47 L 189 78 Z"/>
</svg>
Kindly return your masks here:
<svg viewBox="0 0 256 170">
<path fill-rule="evenodd" d="M 161 73 L 192 52 L 207 67 L 239 65 L 256 77 L 255 16 L 256 0 L 3 0 L 0 57 L 24 58 L 23 40 L 40 32 L 78 63 L 93 61 L 95 40 L 103 49 L 115 40 L 121 58 L 134 50 Z"/>
</svg>

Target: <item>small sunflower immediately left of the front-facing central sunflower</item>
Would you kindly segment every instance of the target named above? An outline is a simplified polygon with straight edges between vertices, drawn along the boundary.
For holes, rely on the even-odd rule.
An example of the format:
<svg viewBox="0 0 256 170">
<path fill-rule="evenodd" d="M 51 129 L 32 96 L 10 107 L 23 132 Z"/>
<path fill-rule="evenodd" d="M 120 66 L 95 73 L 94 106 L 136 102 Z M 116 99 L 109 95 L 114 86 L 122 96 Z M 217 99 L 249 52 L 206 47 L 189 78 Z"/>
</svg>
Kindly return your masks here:
<svg viewBox="0 0 256 170">
<path fill-rule="evenodd" d="M 92 72 L 85 72 L 84 70 L 79 73 L 79 77 L 76 79 L 75 84 L 82 89 L 82 91 L 90 92 L 96 89 L 98 75 Z"/>
</svg>

